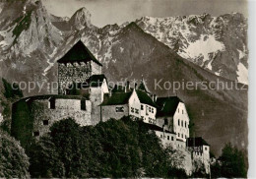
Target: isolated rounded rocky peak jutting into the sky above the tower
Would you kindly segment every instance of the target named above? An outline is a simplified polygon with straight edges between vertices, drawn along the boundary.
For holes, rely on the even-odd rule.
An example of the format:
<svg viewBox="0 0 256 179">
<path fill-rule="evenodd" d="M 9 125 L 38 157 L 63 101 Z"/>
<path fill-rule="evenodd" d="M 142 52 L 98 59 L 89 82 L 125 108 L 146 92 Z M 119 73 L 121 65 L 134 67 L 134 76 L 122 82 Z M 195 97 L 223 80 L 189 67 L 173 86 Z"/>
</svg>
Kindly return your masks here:
<svg viewBox="0 0 256 179">
<path fill-rule="evenodd" d="M 85 28 L 90 28 L 91 24 L 91 14 L 85 8 L 79 9 L 70 19 L 70 25 L 73 26 L 73 30 L 83 30 Z"/>
</svg>

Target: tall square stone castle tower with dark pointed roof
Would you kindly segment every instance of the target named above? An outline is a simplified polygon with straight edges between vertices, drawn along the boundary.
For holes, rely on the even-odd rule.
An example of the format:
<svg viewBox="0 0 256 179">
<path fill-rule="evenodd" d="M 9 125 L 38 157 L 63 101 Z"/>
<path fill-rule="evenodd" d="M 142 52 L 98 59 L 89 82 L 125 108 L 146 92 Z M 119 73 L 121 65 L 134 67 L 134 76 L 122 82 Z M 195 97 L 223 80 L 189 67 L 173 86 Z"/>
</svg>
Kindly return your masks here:
<svg viewBox="0 0 256 179">
<path fill-rule="evenodd" d="M 59 94 L 65 94 L 74 83 L 83 83 L 91 76 L 101 74 L 102 65 L 81 40 L 57 62 Z"/>
</svg>

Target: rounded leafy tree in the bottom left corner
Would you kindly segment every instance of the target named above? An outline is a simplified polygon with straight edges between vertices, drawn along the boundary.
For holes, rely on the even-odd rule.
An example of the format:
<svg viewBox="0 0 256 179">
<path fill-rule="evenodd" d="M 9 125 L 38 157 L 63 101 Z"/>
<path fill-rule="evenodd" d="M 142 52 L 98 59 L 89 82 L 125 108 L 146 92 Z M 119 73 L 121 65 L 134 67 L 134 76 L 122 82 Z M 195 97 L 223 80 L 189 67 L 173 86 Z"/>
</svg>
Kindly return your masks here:
<svg viewBox="0 0 256 179">
<path fill-rule="evenodd" d="M 29 157 L 20 144 L 0 130 L 0 178 L 28 178 Z"/>
</svg>

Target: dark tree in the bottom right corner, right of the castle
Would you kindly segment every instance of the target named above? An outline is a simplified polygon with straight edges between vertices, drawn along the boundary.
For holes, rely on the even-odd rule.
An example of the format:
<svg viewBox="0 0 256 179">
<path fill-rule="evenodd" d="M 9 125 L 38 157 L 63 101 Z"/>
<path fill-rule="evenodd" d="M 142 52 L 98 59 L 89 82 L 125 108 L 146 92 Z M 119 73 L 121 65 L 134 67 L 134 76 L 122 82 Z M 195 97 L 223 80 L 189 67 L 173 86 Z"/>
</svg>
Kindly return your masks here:
<svg viewBox="0 0 256 179">
<path fill-rule="evenodd" d="M 234 148 L 228 143 L 224 146 L 219 160 L 221 162 L 222 177 L 246 178 L 247 168 L 245 164 L 245 156 L 241 150 Z"/>
</svg>

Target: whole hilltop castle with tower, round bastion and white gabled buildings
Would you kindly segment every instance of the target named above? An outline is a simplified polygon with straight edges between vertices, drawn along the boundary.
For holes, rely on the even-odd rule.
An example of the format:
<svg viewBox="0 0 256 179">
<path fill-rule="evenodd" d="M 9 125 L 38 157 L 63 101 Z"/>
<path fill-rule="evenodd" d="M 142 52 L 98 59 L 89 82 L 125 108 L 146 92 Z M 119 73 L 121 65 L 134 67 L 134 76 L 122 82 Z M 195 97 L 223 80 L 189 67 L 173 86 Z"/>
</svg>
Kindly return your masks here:
<svg viewBox="0 0 256 179">
<path fill-rule="evenodd" d="M 110 89 L 102 65 L 82 41 L 57 62 L 58 94 L 30 96 L 13 104 L 11 133 L 22 146 L 26 148 L 33 139 L 48 133 L 54 122 L 68 117 L 87 126 L 130 116 L 144 121 L 163 147 L 184 150 L 188 174 L 195 158 L 210 173 L 210 146 L 202 138 L 190 138 L 189 116 L 179 97 L 157 97 L 143 79 L 134 88 L 126 82 Z"/>
</svg>

